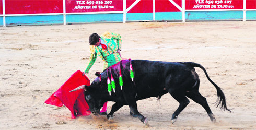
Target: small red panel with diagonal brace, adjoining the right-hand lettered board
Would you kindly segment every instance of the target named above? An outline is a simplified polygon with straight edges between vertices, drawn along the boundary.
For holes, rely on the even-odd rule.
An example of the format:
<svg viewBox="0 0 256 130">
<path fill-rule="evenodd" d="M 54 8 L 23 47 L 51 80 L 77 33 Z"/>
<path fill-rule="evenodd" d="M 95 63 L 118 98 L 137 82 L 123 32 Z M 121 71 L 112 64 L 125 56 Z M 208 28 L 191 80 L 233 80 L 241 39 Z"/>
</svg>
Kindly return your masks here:
<svg viewBox="0 0 256 130">
<path fill-rule="evenodd" d="M 181 0 L 173 0 L 181 8 Z M 169 0 L 157 0 L 156 12 L 180 12 L 180 10 L 174 6 Z"/>
</svg>

